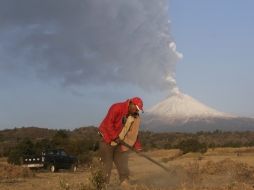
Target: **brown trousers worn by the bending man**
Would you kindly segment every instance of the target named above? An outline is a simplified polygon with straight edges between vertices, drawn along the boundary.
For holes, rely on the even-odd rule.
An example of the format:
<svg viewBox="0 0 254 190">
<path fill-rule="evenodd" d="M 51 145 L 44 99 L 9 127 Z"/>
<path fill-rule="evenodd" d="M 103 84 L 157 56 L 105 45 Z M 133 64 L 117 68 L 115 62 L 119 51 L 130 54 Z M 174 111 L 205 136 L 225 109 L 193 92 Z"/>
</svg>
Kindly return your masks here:
<svg viewBox="0 0 254 190">
<path fill-rule="evenodd" d="M 111 146 L 104 141 L 101 141 L 99 152 L 104 168 L 106 183 L 109 183 L 110 181 L 113 162 L 118 171 L 120 182 L 129 178 L 128 151 L 121 152 L 120 146 Z"/>
</svg>

